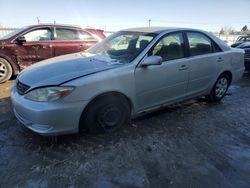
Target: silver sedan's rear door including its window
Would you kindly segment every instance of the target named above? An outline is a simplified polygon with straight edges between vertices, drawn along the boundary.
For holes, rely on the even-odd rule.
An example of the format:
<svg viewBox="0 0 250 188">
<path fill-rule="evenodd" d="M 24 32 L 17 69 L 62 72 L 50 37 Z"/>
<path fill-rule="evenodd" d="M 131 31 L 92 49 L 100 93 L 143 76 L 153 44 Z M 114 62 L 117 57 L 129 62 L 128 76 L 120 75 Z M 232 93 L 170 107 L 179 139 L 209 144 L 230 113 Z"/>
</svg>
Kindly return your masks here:
<svg viewBox="0 0 250 188">
<path fill-rule="evenodd" d="M 187 32 L 189 48 L 188 95 L 197 95 L 207 90 L 218 74 L 220 63 L 227 61 L 219 47 L 200 32 Z"/>
</svg>

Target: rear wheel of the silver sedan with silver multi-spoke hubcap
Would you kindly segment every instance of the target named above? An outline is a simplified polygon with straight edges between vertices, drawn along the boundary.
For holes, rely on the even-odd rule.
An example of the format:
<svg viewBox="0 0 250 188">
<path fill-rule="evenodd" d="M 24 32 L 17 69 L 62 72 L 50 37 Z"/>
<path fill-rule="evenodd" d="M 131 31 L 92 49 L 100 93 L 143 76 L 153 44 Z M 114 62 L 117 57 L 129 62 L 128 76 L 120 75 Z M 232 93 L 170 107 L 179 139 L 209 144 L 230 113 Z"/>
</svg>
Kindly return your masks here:
<svg viewBox="0 0 250 188">
<path fill-rule="evenodd" d="M 227 74 L 222 74 L 219 76 L 217 81 L 215 82 L 212 91 L 206 98 L 210 102 L 219 102 L 226 95 L 227 90 L 230 86 L 230 77 Z"/>
</svg>

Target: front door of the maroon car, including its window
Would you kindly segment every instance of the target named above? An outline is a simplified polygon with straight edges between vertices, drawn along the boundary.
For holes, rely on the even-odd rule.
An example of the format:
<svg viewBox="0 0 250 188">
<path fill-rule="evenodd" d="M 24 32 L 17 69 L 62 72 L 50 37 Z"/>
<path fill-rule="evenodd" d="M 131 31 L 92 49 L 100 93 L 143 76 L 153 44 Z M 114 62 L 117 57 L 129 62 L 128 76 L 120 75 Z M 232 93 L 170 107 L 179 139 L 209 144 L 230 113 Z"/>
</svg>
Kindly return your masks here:
<svg viewBox="0 0 250 188">
<path fill-rule="evenodd" d="M 15 54 L 21 69 L 35 63 L 53 57 L 51 45 L 52 32 L 50 28 L 39 28 L 23 35 L 25 42 L 16 48 Z"/>
</svg>

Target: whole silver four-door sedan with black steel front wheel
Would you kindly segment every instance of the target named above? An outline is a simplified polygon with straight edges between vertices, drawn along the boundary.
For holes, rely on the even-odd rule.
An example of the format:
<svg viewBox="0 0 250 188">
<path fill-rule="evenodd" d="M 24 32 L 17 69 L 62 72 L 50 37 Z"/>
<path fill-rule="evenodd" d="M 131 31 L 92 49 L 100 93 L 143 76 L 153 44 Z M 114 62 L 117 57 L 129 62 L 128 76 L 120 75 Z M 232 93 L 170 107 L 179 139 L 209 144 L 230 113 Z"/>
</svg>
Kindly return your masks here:
<svg viewBox="0 0 250 188">
<path fill-rule="evenodd" d="M 25 69 L 11 98 L 16 117 L 41 135 L 110 132 L 172 103 L 220 101 L 243 72 L 244 51 L 210 33 L 135 28 Z"/>
</svg>

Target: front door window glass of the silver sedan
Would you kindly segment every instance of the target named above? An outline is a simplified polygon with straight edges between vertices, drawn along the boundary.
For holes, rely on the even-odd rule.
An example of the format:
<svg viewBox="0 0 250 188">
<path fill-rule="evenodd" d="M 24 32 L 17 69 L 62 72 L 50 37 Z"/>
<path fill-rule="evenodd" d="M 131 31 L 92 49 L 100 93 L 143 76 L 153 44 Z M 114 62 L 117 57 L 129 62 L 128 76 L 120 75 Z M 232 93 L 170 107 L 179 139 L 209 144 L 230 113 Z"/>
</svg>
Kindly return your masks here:
<svg viewBox="0 0 250 188">
<path fill-rule="evenodd" d="M 150 55 L 158 55 L 163 61 L 184 57 L 184 42 L 181 33 L 170 34 L 162 38 L 151 50 Z"/>
</svg>

